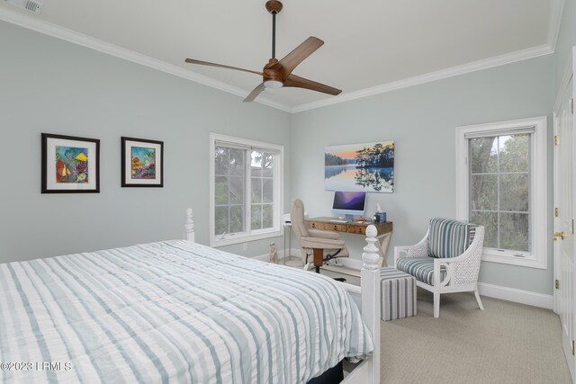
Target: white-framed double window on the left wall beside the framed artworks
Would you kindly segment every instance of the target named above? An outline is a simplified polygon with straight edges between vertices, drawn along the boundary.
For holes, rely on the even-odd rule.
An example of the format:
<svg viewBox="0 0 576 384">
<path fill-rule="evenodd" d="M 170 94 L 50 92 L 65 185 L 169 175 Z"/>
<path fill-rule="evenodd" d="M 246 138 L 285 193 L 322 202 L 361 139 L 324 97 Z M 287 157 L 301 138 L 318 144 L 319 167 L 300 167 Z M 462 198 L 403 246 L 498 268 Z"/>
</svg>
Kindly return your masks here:
<svg viewBox="0 0 576 384">
<path fill-rule="evenodd" d="M 211 246 L 280 236 L 284 147 L 211 134 Z"/>
</svg>

